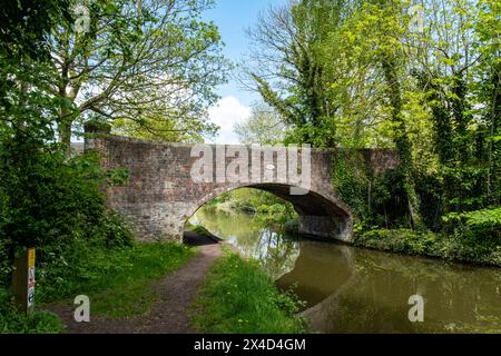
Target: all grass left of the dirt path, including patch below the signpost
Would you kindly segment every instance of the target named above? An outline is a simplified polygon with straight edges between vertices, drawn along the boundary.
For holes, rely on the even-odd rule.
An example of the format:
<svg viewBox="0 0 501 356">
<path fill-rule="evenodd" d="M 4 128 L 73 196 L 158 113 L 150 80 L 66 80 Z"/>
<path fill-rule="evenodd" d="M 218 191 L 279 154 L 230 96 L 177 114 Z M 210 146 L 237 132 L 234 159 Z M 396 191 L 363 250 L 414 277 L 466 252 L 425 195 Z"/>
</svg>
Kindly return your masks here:
<svg viewBox="0 0 501 356">
<path fill-rule="evenodd" d="M 39 268 L 37 303 L 48 303 L 87 295 L 92 315 L 127 318 L 145 314 L 157 299 L 151 281 L 180 267 L 194 249 L 173 243 L 135 244 L 132 247 L 94 249 L 78 265 Z M 1 291 L 1 290 L 0 290 Z M 0 294 L 3 307 L 2 333 L 60 332 L 60 322 L 48 313 L 24 317 L 10 305 L 7 289 Z M 41 307 L 42 308 L 42 307 Z M 6 315 L 6 317 L 4 317 Z"/>
</svg>

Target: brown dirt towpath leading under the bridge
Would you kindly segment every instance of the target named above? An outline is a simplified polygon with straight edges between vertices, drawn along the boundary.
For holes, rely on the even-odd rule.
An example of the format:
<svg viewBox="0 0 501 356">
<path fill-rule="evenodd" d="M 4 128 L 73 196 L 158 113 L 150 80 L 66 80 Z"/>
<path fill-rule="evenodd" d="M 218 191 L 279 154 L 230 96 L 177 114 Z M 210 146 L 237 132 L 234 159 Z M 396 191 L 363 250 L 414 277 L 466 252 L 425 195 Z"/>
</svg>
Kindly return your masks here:
<svg viewBox="0 0 501 356">
<path fill-rule="evenodd" d="M 70 334 L 189 334 L 194 333 L 188 319 L 188 308 L 195 298 L 196 290 L 210 265 L 220 256 L 218 244 L 208 245 L 195 236 L 188 238 L 198 245 L 199 254 L 191 258 L 180 269 L 154 284 L 159 300 L 145 316 L 125 320 L 111 320 L 104 317 L 92 317 L 90 323 L 73 320 L 72 305 L 56 305 L 49 309 L 59 315 Z M 90 309 L 92 312 L 92 309 Z"/>
</svg>

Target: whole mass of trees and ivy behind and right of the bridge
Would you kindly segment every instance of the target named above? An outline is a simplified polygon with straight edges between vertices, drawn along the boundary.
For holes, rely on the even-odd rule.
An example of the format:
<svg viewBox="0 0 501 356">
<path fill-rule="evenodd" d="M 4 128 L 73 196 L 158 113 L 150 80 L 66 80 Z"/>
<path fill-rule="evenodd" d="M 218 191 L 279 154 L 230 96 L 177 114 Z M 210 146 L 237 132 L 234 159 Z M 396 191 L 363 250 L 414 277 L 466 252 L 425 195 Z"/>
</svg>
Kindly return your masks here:
<svg viewBox="0 0 501 356">
<path fill-rule="evenodd" d="M 358 228 L 469 235 L 442 217 L 501 205 L 500 9 L 303 0 L 252 31 L 250 82 L 289 126 L 285 141 L 346 150 L 333 185 Z M 399 166 L 372 175 L 365 148 L 395 149 Z"/>
</svg>

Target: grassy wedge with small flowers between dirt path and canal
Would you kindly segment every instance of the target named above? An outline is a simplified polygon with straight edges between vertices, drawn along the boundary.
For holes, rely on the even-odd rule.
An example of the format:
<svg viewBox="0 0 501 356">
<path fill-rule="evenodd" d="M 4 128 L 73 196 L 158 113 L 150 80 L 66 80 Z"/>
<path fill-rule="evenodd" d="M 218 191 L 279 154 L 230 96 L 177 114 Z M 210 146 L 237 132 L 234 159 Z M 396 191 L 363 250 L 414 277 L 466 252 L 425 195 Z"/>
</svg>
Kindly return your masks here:
<svg viewBox="0 0 501 356">
<path fill-rule="evenodd" d="M 279 293 L 257 261 L 225 251 L 198 291 L 191 323 L 200 333 L 301 333 L 297 310 L 294 297 Z"/>
</svg>

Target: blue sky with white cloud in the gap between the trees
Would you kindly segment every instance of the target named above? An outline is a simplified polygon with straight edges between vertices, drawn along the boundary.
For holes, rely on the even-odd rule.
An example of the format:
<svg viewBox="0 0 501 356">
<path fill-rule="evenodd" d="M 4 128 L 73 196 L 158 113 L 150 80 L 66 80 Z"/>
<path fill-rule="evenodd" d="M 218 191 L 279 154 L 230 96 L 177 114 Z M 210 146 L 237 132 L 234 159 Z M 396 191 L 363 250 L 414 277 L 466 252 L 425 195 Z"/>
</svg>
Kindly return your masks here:
<svg viewBox="0 0 501 356">
<path fill-rule="evenodd" d="M 223 55 L 238 62 L 248 52 L 249 39 L 246 29 L 256 23 L 259 12 L 285 0 L 215 0 L 213 9 L 206 11 L 203 19 L 214 21 L 225 42 Z M 250 116 L 250 107 L 259 100 L 259 95 L 240 88 L 235 79 L 217 88 L 220 100 L 209 108 L 210 121 L 220 127 L 218 136 L 210 140 L 216 144 L 238 144 L 234 134 L 235 123 Z"/>
</svg>

